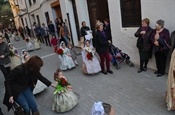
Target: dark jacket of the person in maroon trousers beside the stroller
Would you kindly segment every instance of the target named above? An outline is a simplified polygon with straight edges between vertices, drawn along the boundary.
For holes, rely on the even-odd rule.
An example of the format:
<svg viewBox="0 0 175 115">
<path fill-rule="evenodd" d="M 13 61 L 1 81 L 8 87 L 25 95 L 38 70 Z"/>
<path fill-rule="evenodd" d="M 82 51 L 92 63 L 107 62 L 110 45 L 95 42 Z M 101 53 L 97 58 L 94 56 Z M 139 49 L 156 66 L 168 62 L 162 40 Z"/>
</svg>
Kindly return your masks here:
<svg viewBox="0 0 175 115">
<path fill-rule="evenodd" d="M 105 38 L 100 31 L 97 31 L 94 39 L 94 47 L 96 48 L 97 53 L 102 54 L 108 52 L 109 44 L 107 37 Z"/>
</svg>

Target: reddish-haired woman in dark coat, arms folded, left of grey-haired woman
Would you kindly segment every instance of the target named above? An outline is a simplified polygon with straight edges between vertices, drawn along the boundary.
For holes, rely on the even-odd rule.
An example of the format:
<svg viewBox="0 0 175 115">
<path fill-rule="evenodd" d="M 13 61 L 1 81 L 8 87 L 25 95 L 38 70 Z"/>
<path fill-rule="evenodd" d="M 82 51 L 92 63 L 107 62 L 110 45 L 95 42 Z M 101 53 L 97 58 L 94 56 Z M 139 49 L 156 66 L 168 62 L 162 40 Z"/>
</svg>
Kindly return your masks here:
<svg viewBox="0 0 175 115">
<path fill-rule="evenodd" d="M 147 64 L 152 54 L 152 43 L 150 40 L 153 29 L 149 27 L 149 19 L 142 20 L 142 26 L 134 34 L 137 39 L 137 48 L 140 56 L 140 69 L 138 73 L 147 71 Z"/>
</svg>

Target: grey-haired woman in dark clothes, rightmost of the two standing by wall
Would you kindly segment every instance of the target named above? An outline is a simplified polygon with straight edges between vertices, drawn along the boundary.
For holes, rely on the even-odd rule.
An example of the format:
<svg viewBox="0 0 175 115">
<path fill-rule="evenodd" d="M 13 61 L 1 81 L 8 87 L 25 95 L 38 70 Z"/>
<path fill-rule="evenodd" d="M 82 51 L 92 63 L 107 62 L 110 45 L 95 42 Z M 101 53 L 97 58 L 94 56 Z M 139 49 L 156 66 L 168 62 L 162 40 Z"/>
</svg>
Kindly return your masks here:
<svg viewBox="0 0 175 115">
<path fill-rule="evenodd" d="M 153 51 L 156 59 L 157 77 L 165 74 L 167 52 L 170 49 L 170 34 L 169 30 L 164 28 L 164 21 L 158 20 L 156 22 L 156 29 L 154 29 L 151 41 L 154 44 Z"/>
</svg>

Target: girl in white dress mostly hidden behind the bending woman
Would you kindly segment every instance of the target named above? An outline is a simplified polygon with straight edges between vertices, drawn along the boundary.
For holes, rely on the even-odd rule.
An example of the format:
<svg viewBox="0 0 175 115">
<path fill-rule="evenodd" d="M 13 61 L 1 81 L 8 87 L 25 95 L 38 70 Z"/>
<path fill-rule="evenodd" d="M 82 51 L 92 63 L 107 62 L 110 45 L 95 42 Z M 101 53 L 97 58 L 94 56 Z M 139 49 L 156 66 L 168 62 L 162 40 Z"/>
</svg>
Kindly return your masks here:
<svg viewBox="0 0 175 115">
<path fill-rule="evenodd" d="M 22 50 L 21 56 L 22 56 L 23 63 L 27 62 L 30 59 L 30 55 L 25 49 Z M 44 83 L 42 83 L 40 80 L 38 80 L 35 88 L 33 89 L 33 94 L 38 94 L 46 88 L 47 86 Z"/>
</svg>

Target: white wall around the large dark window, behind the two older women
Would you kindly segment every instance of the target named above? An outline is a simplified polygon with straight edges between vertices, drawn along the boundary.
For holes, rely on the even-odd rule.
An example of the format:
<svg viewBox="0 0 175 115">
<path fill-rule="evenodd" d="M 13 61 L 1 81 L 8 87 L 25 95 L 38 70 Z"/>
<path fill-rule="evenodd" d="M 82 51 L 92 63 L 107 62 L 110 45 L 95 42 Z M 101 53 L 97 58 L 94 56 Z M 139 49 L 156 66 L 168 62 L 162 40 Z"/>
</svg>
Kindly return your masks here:
<svg viewBox="0 0 175 115">
<path fill-rule="evenodd" d="M 138 28 L 122 28 L 119 0 L 108 0 L 112 37 L 115 46 L 129 54 L 131 61 L 139 64 L 139 54 L 136 48 L 134 33 Z M 150 26 L 155 28 L 158 19 L 165 21 L 165 27 L 172 32 L 175 29 L 175 0 L 141 0 L 142 18 L 149 18 Z M 148 65 L 155 69 L 154 56 Z"/>
</svg>

